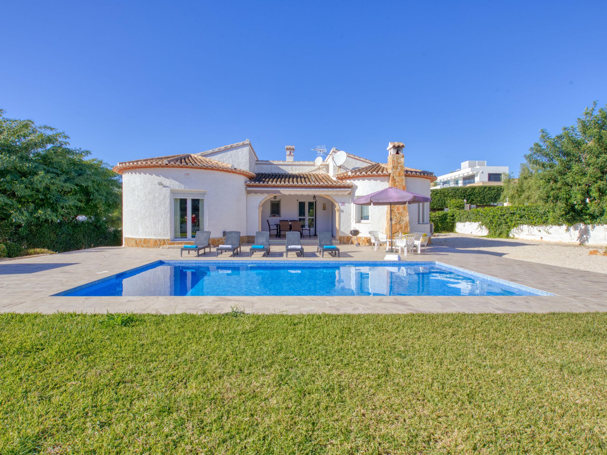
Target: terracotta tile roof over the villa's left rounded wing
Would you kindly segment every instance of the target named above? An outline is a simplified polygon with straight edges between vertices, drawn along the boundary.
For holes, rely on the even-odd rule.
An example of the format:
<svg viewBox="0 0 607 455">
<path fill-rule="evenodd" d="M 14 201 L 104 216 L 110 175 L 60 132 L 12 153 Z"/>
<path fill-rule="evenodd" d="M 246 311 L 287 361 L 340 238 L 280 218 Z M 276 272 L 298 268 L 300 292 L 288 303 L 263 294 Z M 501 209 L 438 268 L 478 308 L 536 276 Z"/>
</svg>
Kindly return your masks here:
<svg viewBox="0 0 607 455">
<path fill-rule="evenodd" d="M 230 164 L 211 158 L 201 157 L 192 153 L 181 153 L 179 155 L 166 155 L 164 157 L 143 158 L 142 160 L 124 161 L 114 166 L 114 172 L 122 174 L 125 170 L 140 169 L 141 167 L 192 167 L 194 169 L 220 170 L 222 172 L 232 172 L 241 174 L 245 177 L 253 177 L 253 172 L 238 169 Z"/>
</svg>

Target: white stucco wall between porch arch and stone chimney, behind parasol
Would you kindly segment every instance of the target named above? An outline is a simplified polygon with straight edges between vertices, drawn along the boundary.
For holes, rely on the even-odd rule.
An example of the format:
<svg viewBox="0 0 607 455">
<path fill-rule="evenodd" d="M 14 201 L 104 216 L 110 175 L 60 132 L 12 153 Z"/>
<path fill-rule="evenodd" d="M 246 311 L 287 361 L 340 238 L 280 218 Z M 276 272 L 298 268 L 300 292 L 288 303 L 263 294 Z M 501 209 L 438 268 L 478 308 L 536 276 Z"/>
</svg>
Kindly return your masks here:
<svg viewBox="0 0 607 455">
<path fill-rule="evenodd" d="M 366 196 L 367 194 L 375 193 L 388 187 L 388 177 L 375 178 L 353 178 L 349 180 L 354 185 L 352 190 L 352 200 Z M 345 232 L 350 232 L 350 229 L 358 229 L 361 231 L 361 236 L 368 237 L 369 231 L 386 232 L 385 214 L 388 210 L 386 206 L 369 206 L 369 221 L 361 222 L 359 218 L 359 206 L 350 203 L 350 223 L 351 227 L 344 229 Z"/>
</svg>

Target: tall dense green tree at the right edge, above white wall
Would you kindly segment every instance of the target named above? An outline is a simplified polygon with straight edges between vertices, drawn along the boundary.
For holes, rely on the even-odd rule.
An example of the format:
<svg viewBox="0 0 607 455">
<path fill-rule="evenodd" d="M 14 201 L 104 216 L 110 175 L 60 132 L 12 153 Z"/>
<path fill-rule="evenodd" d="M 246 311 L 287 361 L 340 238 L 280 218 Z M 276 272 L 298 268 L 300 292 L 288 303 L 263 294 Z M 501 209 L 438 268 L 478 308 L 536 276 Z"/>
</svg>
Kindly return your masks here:
<svg viewBox="0 0 607 455">
<path fill-rule="evenodd" d="M 596 106 L 554 138 L 541 130 L 540 141 L 525 155 L 538 170 L 539 195 L 549 204 L 551 222 L 607 223 L 607 106 L 598 112 Z"/>
</svg>

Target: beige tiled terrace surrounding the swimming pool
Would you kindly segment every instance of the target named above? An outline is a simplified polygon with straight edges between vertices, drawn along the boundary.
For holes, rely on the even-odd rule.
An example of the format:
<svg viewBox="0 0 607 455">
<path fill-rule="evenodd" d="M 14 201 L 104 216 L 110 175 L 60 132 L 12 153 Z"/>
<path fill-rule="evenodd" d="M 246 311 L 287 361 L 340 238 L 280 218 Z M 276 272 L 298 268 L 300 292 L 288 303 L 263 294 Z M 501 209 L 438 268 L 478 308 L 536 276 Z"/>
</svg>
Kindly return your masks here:
<svg viewBox="0 0 607 455">
<path fill-rule="evenodd" d="M 319 258 L 316 247 L 305 245 L 302 261 Z M 514 247 L 516 248 L 516 247 Z M 341 245 L 337 260 L 382 260 L 385 251 L 369 246 Z M 428 253 L 404 260 L 440 261 L 474 272 L 551 292 L 538 297 L 50 297 L 155 260 L 180 258 L 177 249 L 106 247 L 0 262 L 0 312 L 225 312 L 239 306 L 260 313 L 409 313 L 409 312 L 584 312 L 607 311 L 607 277 L 564 267 L 500 257 L 482 251 L 429 246 Z M 186 260 L 186 254 L 183 259 Z M 256 255 L 256 260 L 259 259 Z M 402 255 L 401 255 L 402 256 Z M 248 246 L 239 257 L 248 260 Z M 196 260 L 191 255 L 189 260 Z M 212 254 L 198 260 L 215 260 Z M 273 246 L 270 259 L 284 260 L 284 247 Z M 290 255 L 289 260 L 293 260 Z M 327 259 L 327 255 L 325 255 Z M 566 264 L 564 264 L 566 265 Z"/>
</svg>

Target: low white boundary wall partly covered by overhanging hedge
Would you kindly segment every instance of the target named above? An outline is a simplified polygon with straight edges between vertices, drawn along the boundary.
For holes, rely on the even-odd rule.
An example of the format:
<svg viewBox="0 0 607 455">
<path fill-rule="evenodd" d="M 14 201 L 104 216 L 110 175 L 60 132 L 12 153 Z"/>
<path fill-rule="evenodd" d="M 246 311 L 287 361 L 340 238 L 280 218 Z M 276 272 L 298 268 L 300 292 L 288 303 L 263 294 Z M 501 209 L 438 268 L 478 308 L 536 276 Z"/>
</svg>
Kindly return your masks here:
<svg viewBox="0 0 607 455">
<path fill-rule="evenodd" d="M 487 235 L 480 223 L 456 223 L 458 234 Z M 565 243 L 604 245 L 607 244 L 607 224 L 583 224 L 573 226 L 527 226 L 523 224 L 510 231 L 510 237 L 522 240 L 560 241 Z"/>
</svg>

